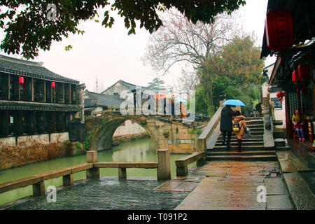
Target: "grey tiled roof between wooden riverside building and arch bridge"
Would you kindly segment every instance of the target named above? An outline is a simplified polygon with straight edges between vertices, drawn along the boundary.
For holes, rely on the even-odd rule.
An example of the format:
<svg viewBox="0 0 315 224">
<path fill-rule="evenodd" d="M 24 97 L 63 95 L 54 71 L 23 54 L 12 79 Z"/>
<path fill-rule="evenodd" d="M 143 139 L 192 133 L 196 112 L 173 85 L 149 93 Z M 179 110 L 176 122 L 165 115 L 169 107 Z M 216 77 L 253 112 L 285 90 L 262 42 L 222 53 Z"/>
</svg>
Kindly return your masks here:
<svg viewBox="0 0 315 224">
<path fill-rule="evenodd" d="M 120 99 L 119 96 L 105 95 L 88 91 L 85 92 L 87 96 L 90 97 L 90 99 L 84 99 L 85 108 L 93 106 L 120 106 L 120 104 L 125 101 L 124 99 Z"/>
</svg>

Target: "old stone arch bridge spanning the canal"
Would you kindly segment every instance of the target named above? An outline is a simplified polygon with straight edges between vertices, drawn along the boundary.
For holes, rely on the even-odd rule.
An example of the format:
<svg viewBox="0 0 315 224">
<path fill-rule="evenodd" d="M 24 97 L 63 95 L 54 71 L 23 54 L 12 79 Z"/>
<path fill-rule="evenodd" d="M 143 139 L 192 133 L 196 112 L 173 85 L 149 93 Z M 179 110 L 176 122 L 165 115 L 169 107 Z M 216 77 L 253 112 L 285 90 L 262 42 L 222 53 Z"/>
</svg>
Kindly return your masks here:
<svg viewBox="0 0 315 224">
<path fill-rule="evenodd" d="M 197 148 L 201 123 L 181 123 L 171 116 L 122 115 L 119 111 L 102 111 L 98 116 L 85 118 L 90 151 L 112 147 L 113 133 L 125 120 L 144 127 L 153 139 L 156 150 L 169 148 L 170 153 L 192 153 Z"/>
</svg>

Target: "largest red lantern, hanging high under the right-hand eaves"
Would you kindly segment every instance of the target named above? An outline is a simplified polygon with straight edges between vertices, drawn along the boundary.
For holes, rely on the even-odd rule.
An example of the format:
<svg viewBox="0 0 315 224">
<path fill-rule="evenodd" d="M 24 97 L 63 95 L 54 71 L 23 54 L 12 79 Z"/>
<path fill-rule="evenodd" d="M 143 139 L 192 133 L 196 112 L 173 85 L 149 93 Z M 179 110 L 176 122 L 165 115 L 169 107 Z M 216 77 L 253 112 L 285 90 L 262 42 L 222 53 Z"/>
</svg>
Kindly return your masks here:
<svg viewBox="0 0 315 224">
<path fill-rule="evenodd" d="M 269 49 L 283 50 L 293 45 L 293 22 L 288 10 L 279 9 L 268 13 L 265 29 Z"/>
</svg>

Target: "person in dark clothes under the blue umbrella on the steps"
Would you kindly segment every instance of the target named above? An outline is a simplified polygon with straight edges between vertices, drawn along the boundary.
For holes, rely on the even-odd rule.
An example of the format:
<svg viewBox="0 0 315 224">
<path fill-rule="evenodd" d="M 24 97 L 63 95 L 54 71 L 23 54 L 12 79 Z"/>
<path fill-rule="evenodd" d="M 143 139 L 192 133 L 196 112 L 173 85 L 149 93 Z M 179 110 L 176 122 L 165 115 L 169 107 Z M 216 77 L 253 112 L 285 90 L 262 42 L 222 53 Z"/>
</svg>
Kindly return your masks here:
<svg viewBox="0 0 315 224">
<path fill-rule="evenodd" d="M 221 111 L 220 131 L 222 132 L 222 145 L 225 146 L 225 137 L 228 135 L 226 147 L 230 148 L 232 134 L 232 116 L 235 112 L 231 109 L 231 105 L 226 105 Z"/>
</svg>

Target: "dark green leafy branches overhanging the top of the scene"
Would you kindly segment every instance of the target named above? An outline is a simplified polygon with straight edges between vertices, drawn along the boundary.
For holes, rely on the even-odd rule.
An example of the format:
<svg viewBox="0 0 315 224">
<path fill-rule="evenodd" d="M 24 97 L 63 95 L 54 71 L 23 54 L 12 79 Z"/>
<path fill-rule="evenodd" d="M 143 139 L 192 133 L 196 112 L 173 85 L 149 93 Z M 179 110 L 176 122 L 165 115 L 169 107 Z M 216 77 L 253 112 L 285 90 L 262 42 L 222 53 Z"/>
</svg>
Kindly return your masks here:
<svg viewBox="0 0 315 224">
<path fill-rule="evenodd" d="M 55 9 L 49 3 L 55 4 Z M 245 3 L 243 0 L 116 0 L 112 4 L 109 0 L 6 0 L 0 2 L 0 27 L 6 33 L 0 47 L 8 54 L 21 53 L 27 59 L 34 58 L 38 56 L 39 48 L 50 50 L 52 41 L 62 41 L 70 33 L 83 34 L 84 31 L 78 29 L 79 22 L 98 16 L 98 8 L 110 8 L 104 13 L 102 26 L 112 27 L 114 19 L 110 12 L 118 10 L 118 15 L 125 18 L 128 34 L 135 34 L 136 21 L 140 22 L 140 28 L 144 27 L 150 33 L 158 30 L 162 26 L 158 12 L 172 7 L 193 23 L 210 23 L 217 14 L 231 13 Z M 50 20 L 51 15 L 57 20 Z M 70 48 L 71 45 L 66 47 L 67 50 Z"/>
</svg>

